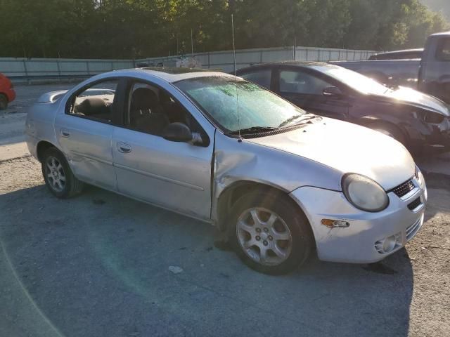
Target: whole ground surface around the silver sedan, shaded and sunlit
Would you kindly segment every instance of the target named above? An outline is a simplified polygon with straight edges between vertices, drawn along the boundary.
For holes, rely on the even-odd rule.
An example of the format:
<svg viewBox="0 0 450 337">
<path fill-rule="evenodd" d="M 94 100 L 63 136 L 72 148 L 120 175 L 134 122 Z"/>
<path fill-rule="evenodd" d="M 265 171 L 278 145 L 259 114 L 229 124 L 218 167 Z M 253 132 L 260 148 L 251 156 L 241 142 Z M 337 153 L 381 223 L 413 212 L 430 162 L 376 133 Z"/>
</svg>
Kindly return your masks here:
<svg viewBox="0 0 450 337">
<path fill-rule="evenodd" d="M 0 336 L 450 336 L 450 176 L 425 177 L 426 223 L 383 263 L 313 257 L 269 277 L 197 220 L 95 187 L 53 197 L 23 123 L 72 86 L 18 86 L 0 114 Z M 425 171 L 450 171 L 448 156 Z"/>
</svg>

